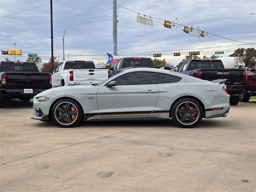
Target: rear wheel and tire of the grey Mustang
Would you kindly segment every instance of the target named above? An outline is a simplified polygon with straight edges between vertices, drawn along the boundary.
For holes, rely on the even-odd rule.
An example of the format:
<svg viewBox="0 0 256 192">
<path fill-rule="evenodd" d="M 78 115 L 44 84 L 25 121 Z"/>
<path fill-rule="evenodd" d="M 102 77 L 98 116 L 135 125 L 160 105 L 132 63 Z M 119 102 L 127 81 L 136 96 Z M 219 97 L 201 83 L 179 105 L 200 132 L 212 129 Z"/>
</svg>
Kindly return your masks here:
<svg viewBox="0 0 256 192">
<path fill-rule="evenodd" d="M 193 98 L 176 101 L 171 111 L 173 122 L 182 128 L 196 126 L 202 120 L 203 113 L 201 104 Z"/>
</svg>

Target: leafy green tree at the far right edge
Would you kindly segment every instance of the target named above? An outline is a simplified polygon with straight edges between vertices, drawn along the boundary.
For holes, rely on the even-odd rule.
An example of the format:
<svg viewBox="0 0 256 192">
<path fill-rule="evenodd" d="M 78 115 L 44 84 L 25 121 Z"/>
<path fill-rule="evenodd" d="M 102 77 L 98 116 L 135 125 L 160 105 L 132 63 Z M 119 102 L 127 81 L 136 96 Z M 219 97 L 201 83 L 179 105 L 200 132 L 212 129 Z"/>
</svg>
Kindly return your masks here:
<svg viewBox="0 0 256 192">
<path fill-rule="evenodd" d="M 256 49 L 254 48 L 238 48 L 230 57 L 242 57 L 246 67 L 253 67 L 256 64 Z"/>
</svg>

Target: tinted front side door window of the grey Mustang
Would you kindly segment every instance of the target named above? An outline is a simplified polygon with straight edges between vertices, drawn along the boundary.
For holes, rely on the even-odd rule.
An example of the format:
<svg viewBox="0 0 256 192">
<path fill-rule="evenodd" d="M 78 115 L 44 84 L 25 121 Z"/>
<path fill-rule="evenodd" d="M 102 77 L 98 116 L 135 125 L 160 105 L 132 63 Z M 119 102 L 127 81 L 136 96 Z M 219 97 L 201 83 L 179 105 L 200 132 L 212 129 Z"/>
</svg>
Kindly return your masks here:
<svg viewBox="0 0 256 192">
<path fill-rule="evenodd" d="M 152 72 L 133 72 L 124 74 L 116 78 L 116 85 L 147 85 L 156 84 L 158 80 L 158 73 Z"/>
</svg>

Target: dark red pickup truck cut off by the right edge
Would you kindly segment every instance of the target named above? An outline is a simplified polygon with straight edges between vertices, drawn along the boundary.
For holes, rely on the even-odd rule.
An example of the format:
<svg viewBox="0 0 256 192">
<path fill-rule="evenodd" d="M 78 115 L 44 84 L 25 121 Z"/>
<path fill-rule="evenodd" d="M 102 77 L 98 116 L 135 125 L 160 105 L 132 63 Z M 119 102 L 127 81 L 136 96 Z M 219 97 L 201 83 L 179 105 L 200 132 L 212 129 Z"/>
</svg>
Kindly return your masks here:
<svg viewBox="0 0 256 192">
<path fill-rule="evenodd" d="M 251 96 L 256 96 L 256 65 L 248 67 L 244 73 L 245 90 L 240 95 L 240 102 L 248 102 Z"/>
</svg>

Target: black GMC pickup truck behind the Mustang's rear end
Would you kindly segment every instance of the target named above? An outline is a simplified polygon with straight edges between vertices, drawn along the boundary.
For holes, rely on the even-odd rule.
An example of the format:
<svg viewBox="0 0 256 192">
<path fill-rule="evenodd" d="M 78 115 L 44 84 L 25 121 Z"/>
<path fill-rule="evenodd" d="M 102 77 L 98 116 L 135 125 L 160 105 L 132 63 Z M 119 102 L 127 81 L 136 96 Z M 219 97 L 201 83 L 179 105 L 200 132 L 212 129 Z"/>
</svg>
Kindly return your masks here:
<svg viewBox="0 0 256 192">
<path fill-rule="evenodd" d="M 225 80 L 232 105 L 238 104 L 240 94 L 245 89 L 244 70 L 225 69 L 221 60 L 186 60 L 178 72 L 208 81 Z"/>
</svg>

